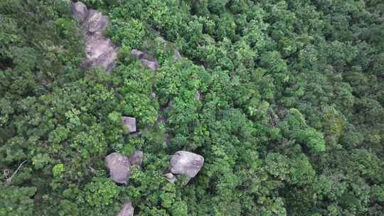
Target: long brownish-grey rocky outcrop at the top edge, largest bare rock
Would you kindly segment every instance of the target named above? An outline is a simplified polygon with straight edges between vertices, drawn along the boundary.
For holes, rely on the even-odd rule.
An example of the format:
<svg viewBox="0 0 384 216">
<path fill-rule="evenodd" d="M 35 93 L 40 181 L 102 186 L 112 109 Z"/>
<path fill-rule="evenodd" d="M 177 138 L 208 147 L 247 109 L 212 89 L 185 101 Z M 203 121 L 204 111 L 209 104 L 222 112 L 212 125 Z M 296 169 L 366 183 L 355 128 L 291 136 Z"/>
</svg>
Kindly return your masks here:
<svg viewBox="0 0 384 216">
<path fill-rule="evenodd" d="M 102 67 L 107 72 L 114 68 L 117 58 L 117 48 L 109 38 L 102 35 L 108 26 L 107 16 L 95 10 L 88 10 L 81 2 L 72 5 L 73 16 L 82 24 L 82 33 L 85 36 L 86 58 L 82 64 L 85 68 Z"/>
</svg>

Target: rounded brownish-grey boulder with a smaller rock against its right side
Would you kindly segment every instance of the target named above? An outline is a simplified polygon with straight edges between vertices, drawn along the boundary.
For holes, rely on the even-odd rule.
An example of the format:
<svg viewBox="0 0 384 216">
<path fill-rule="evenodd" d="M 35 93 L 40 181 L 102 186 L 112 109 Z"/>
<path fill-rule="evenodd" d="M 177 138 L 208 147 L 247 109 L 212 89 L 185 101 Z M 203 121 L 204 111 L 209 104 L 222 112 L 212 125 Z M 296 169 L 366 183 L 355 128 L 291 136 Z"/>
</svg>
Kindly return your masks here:
<svg viewBox="0 0 384 216">
<path fill-rule="evenodd" d="M 126 156 L 121 153 L 111 153 L 105 157 L 105 166 L 110 172 L 111 178 L 115 183 L 127 184 L 131 176 L 131 164 Z"/>
</svg>

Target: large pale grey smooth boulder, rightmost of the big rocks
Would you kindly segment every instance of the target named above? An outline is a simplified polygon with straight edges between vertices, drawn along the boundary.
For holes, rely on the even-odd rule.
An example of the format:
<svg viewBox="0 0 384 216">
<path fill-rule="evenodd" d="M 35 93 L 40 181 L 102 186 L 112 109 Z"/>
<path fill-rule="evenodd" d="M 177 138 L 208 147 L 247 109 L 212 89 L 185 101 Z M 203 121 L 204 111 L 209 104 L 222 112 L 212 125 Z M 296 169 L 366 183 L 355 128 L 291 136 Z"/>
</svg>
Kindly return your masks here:
<svg viewBox="0 0 384 216">
<path fill-rule="evenodd" d="M 171 157 L 171 172 L 193 178 L 201 170 L 203 164 L 203 156 L 188 151 L 177 151 Z"/>
</svg>

